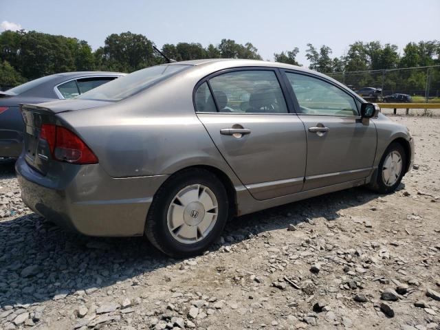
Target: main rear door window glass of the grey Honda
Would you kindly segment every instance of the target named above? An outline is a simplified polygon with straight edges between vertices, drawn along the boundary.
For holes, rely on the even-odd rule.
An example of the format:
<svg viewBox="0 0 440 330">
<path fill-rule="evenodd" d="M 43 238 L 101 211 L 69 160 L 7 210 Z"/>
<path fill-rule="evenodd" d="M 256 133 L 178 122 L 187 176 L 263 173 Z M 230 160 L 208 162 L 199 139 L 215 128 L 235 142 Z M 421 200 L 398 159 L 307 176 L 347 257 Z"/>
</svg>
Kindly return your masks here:
<svg viewBox="0 0 440 330">
<path fill-rule="evenodd" d="M 273 71 L 228 72 L 210 79 L 219 112 L 287 113 L 278 79 Z"/>
</svg>

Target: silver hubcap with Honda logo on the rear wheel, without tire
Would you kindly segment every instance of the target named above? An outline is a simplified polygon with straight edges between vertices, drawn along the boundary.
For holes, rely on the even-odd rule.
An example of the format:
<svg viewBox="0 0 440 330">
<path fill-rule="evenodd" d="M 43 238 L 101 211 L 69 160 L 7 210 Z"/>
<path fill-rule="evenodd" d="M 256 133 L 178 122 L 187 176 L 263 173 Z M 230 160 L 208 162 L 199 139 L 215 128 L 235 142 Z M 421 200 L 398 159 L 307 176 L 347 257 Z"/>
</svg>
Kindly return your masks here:
<svg viewBox="0 0 440 330">
<path fill-rule="evenodd" d="M 201 184 L 187 186 L 170 203 L 168 230 L 180 243 L 196 243 L 210 233 L 218 212 L 217 198 L 210 188 Z"/>
</svg>

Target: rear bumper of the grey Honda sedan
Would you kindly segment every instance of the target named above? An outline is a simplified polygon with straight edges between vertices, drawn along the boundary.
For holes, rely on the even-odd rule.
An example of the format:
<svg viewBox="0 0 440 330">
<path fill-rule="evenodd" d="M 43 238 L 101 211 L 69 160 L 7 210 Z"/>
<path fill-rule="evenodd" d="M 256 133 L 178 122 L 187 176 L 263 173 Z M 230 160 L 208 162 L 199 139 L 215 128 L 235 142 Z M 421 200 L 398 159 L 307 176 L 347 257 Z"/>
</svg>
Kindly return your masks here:
<svg viewBox="0 0 440 330">
<path fill-rule="evenodd" d="M 63 228 L 89 236 L 138 236 L 167 175 L 109 177 L 99 164 L 63 163 L 63 175 L 43 176 L 23 157 L 15 165 L 24 203 Z"/>
</svg>

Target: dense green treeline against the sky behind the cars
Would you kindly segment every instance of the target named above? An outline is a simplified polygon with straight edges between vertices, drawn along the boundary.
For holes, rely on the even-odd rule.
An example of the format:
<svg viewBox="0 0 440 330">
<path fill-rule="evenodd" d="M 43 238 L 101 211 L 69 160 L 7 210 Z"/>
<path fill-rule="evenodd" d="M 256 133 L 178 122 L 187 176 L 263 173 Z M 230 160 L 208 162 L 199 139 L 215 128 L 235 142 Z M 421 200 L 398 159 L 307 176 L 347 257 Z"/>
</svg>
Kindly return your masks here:
<svg viewBox="0 0 440 330">
<path fill-rule="evenodd" d="M 123 32 L 110 34 L 104 46 L 94 51 L 87 41 L 76 38 L 36 31 L 4 31 L 0 34 L 0 87 L 12 87 L 58 72 L 133 72 L 164 63 L 164 58 L 153 49 L 154 45 L 142 34 Z M 231 39 L 221 39 L 217 45 L 207 47 L 200 43 L 166 43 L 161 51 L 176 61 L 198 58 L 262 59 L 252 43 L 243 45 Z M 298 52 L 298 47 L 292 47 L 292 50 L 275 53 L 274 58 L 267 60 L 301 65 L 296 59 Z M 440 64 L 439 41 L 410 42 L 402 51 L 397 45 L 382 45 L 379 41 L 356 41 L 340 57 L 333 57 L 327 45 L 316 47 L 309 43 L 305 52 L 309 68 L 327 74 Z M 419 78 L 423 83 L 423 77 Z"/>
</svg>

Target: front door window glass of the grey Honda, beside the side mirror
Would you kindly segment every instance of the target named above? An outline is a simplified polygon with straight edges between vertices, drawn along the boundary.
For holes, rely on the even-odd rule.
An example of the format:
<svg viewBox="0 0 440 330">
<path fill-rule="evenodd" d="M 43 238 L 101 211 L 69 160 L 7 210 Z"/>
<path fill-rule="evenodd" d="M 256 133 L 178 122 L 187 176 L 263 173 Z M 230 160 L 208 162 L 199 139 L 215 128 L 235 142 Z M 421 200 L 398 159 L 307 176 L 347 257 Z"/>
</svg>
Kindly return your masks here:
<svg viewBox="0 0 440 330">
<path fill-rule="evenodd" d="M 286 73 L 300 105 L 299 113 L 358 115 L 352 96 L 336 86 L 303 74 Z"/>
</svg>

